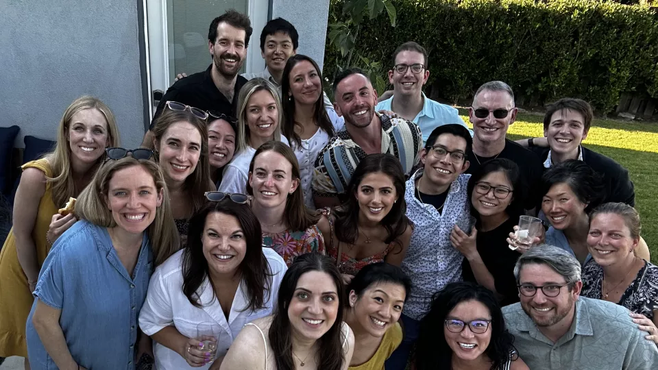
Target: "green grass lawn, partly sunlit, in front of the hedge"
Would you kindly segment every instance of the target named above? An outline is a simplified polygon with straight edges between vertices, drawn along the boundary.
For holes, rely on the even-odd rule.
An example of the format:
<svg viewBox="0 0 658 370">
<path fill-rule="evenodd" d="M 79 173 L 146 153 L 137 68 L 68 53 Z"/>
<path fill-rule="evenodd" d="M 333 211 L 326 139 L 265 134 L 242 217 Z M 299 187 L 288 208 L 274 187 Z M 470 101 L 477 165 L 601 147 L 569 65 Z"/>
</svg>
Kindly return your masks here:
<svg viewBox="0 0 658 370">
<path fill-rule="evenodd" d="M 460 110 L 468 122 L 466 110 Z M 511 140 L 544 136 L 543 116 L 518 114 L 509 127 Z M 470 124 L 469 124 L 470 125 Z M 642 218 L 642 237 L 658 264 L 658 124 L 595 119 L 583 145 L 629 169 L 635 184 L 635 207 Z"/>
</svg>

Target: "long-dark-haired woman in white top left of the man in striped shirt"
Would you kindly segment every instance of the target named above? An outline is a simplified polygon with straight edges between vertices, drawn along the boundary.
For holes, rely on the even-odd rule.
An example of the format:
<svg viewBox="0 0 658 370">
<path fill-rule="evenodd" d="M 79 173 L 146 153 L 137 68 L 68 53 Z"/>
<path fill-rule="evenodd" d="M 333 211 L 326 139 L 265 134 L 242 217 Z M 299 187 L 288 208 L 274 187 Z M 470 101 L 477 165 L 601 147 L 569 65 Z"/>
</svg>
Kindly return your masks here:
<svg viewBox="0 0 658 370">
<path fill-rule="evenodd" d="M 281 96 L 284 113 L 282 132 L 289 138 L 300 164 L 300 187 L 304 204 L 315 209 L 310 181 L 313 177 L 313 162 L 317 153 L 329 139 L 343 130 L 343 119 L 330 120 L 322 93 L 322 72 L 308 56 L 297 54 L 289 58 L 281 80 Z M 334 117 L 335 114 L 333 115 Z M 338 118 L 338 117 L 337 117 Z"/>
</svg>

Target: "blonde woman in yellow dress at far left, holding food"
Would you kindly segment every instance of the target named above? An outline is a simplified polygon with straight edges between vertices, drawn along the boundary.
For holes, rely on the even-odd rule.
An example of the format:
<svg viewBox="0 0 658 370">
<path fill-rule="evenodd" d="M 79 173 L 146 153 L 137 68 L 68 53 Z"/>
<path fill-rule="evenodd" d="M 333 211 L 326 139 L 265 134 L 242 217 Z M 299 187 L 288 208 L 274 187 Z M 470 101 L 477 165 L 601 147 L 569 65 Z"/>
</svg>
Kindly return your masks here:
<svg viewBox="0 0 658 370">
<path fill-rule="evenodd" d="M 0 252 L 0 357 L 25 357 L 29 369 L 25 321 L 32 291 L 52 244 L 77 221 L 75 213 L 62 216 L 58 209 L 89 184 L 105 148 L 117 145 L 110 108 L 94 97 L 80 97 L 64 111 L 55 149 L 21 167 L 14 225 Z"/>
</svg>

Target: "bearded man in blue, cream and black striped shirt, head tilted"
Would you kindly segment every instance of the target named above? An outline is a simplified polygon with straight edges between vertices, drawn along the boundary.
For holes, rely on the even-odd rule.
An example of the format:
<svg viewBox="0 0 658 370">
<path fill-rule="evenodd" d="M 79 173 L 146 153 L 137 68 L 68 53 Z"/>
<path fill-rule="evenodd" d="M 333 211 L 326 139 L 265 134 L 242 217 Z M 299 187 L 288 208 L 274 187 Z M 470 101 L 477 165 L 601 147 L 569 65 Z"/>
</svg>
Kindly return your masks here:
<svg viewBox="0 0 658 370">
<path fill-rule="evenodd" d="M 338 206 L 358 163 L 372 153 L 389 153 L 409 175 L 422 147 L 419 127 L 399 117 L 375 112 L 377 92 L 361 69 L 345 69 L 334 79 L 334 108 L 345 119 L 322 149 L 313 170 L 313 199 L 317 208 Z"/>
</svg>

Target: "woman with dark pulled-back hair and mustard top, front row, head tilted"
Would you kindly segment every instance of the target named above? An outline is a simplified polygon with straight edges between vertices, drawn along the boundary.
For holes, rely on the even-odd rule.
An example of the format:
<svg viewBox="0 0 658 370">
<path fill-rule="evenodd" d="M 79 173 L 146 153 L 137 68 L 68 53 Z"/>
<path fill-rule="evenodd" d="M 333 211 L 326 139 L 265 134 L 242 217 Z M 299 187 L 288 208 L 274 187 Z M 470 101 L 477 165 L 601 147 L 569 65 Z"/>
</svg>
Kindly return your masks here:
<svg viewBox="0 0 658 370">
<path fill-rule="evenodd" d="M 411 279 L 386 262 L 369 264 L 350 282 L 345 323 L 354 331 L 350 370 L 384 369 L 384 362 L 402 342 L 398 323 Z"/>
</svg>

